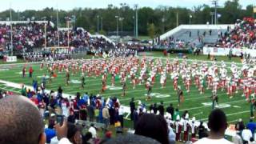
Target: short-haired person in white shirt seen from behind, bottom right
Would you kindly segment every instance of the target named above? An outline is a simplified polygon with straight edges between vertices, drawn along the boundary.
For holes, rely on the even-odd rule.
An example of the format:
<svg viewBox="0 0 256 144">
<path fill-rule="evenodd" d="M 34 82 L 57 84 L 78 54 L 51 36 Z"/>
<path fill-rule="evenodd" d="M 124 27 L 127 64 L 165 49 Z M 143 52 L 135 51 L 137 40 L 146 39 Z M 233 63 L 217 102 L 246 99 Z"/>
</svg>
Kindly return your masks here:
<svg viewBox="0 0 256 144">
<path fill-rule="evenodd" d="M 208 138 L 202 138 L 194 144 L 210 144 L 210 143 L 219 143 L 219 144 L 231 144 L 232 142 L 227 141 L 224 138 L 225 130 L 227 128 L 226 114 L 220 110 L 213 110 L 208 117 L 208 127 L 210 133 Z"/>
</svg>

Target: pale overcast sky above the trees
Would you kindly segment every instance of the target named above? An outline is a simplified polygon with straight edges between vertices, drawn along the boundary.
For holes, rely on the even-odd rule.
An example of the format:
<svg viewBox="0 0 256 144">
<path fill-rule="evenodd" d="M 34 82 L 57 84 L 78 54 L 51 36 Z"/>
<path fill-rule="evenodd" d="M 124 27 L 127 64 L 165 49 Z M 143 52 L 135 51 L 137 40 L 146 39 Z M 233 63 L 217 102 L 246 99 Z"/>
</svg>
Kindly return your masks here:
<svg viewBox="0 0 256 144">
<path fill-rule="evenodd" d="M 108 4 L 120 6 L 120 3 L 126 2 L 129 6 L 180 6 L 191 8 L 202 4 L 211 5 L 211 0 L 0 0 L 0 11 L 12 7 L 14 10 L 42 10 L 46 7 L 56 7 L 62 10 L 72 10 L 75 7 L 104 8 Z M 218 0 L 219 6 L 223 6 L 226 0 Z M 243 8 L 247 5 L 256 5 L 256 0 L 240 0 Z"/>
</svg>

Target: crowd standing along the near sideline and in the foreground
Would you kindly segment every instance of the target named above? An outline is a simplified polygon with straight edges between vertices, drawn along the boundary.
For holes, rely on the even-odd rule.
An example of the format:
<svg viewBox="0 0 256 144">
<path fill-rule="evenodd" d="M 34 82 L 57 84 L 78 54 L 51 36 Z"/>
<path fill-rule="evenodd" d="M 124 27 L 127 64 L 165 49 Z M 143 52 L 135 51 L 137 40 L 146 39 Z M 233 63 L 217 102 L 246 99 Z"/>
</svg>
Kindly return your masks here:
<svg viewBox="0 0 256 144">
<path fill-rule="evenodd" d="M 63 91 L 62 87 L 54 92 L 43 90 L 40 86 L 37 86 L 35 90 L 23 87 L 21 91 L 24 97 L 29 98 L 38 107 L 40 116 L 44 118 L 47 143 L 66 142 L 66 139 L 59 141 L 60 138 L 58 138 L 58 128 L 55 124 L 58 122 L 59 116 L 64 116 L 68 122 L 66 123 L 67 129 L 70 130 L 66 134 L 68 142 L 108 143 L 119 141 L 112 138 L 113 129 L 110 131 L 111 127 L 115 128 L 116 137 L 126 135 L 123 129 L 127 125 L 124 121 L 126 111 L 118 98 L 103 98 L 99 94 L 87 93 L 77 93 L 75 97 L 64 98 Z M 9 96 L 11 98 L 11 95 L 14 94 L 1 91 L 0 102 Z M 134 128 L 131 133 L 153 138 L 155 143 L 196 142 L 197 139 L 199 139 L 198 143 L 230 143 L 224 138 L 227 122 L 226 115 L 222 110 L 214 110 L 209 116 L 208 125 L 206 125 L 203 122 L 196 122 L 195 118 L 190 119 L 187 110 L 181 114 L 172 104 L 165 107 L 163 102 L 160 102 L 160 104 L 154 103 L 146 107 L 142 102 L 134 102 L 134 98 L 132 98 L 130 119 L 134 124 L 131 126 Z M 90 125 L 78 126 L 78 120 L 90 122 Z M 98 125 L 100 123 L 102 126 Z M 81 127 L 82 129 L 80 129 Z M 256 123 L 250 121 L 245 126 L 239 119 L 235 129 L 237 134 L 232 138 L 234 143 L 254 142 Z M 101 130 L 104 133 L 103 136 L 100 136 L 99 131 Z M 79 139 L 79 135 L 82 139 Z"/>
</svg>

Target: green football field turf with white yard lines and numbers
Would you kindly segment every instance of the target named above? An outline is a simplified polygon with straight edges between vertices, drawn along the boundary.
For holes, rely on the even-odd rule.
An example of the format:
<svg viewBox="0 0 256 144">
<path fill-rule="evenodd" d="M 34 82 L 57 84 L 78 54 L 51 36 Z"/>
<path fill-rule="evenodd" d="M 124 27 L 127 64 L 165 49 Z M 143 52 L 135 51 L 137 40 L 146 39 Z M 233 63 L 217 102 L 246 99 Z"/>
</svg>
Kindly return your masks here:
<svg viewBox="0 0 256 144">
<path fill-rule="evenodd" d="M 148 56 L 156 56 L 162 57 L 162 53 L 146 53 Z M 176 55 L 170 55 L 170 57 L 175 57 Z M 199 60 L 207 60 L 206 56 L 194 56 L 189 55 L 190 59 L 199 59 Z M 219 61 L 224 60 L 229 62 L 226 57 L 218 57 Z M 233 59 L 235 62 L 239 62 L 239 58 Z M 33 78 L 28 78 L 28 74 L 26 74 L 26 78 L 22 78 L 22 66 L 23 64 L 13 64 L 13 65 L 0 65 L 0 80 L 7 82 L 15 82 L 18 84 L 26 84 L 31 86 L 32 80 L 37 79 L 38 83 L 41 82 L 41 77 L 46 73 L 46 67 L 44 70 L 40 70 L 39 64 L 31 64 L 28 63 L 27 69 L 29 66 L 32 66 L 34 69 Z M 230 64 L 227 64 L 230 66 Z M 240 65 L 241 66 L 241 65 Z M 58 73 L 57 73 L 58 74 Z M 178 106 L 177 92 L 174 91 L 172 80 L 170 80 L 170 75 L 168 75 L 166 81 L 166 88 L 161 88 L 160 86 L 160 75 L 156 78 L 156 83 L 153 86 L 152 95 L 153 98 L 150 101 L 146 101 L 146 88 L 145 85 L 136 86 L 133 89 L 130 80 L 126 82 L 127 90 L 126 96 L 122 97 L 122 88 L 120 82 L 116 82 L 116 86 L 110 86 L 110 76 L 107 78 L 107 86 L 108 89 L 106 92 L 102 94 L 103 97 L 108 98 L 110 96 L 115 96 L 119 98 L 119 101 L 124 106 L 129 106 L 130 98 L 135 98 L 136 102 L 138 100 L 142 101 L 142 103 L 146 103 L 147 106 L 154 102 L 164 102 L 165 106 L 169 106 L 170 103 L 173 103 L 175 107 Z M 80 85 L 78 82 L 80 81 L 80 74 L 71 75 L 70 74 L 70 86 L 66 86 L 66 78 L 65 73 L 58 74 L 57 78 L 53 78 L 53 82 L 46 84 L 47 90 L 57 90 L 58 86 L 62 86 L 63 93 L 65 94 L 76 94 L 80 92 L 84 94 L 88 92 L 89 94 L 99 94 L 102 88 L 102 77 L 98 78 L 86 78 L 86 85 L 84 89 L 80 89 Z M 182 82 L 179 82 L 179 85 L 182 86 L 182 90 L 184 92 L 185 101 L 179 106 L 180 111 L 189 110 L 190 118 L 193 116 L 196 117 L 197 120 L 207 121 L 208 114 L 210 114 L 211 108 L 211 90 L 206 90 L 205 94 L 200 94 L 194 84 L 191 86 L 190 93 L 186 93 L 186 89 Z M 10 90 L 15 93 L 20 93 L 19 88 L 15 88 L 12 86 L 6 86 L 6 84 L 0 82 L 0 88 L 2 90 Z M 242 98 L 242 90 L 239 91 L 238 94 L 235 94 L 234 98 L 228 98 L 226 95 L 226 91 L 218 90 L 219 97 L 219 106 L 222 107 L 222 110 L 226 112 L 228 117 L 228 122 L 234 123 L 238 120 L 238 118 L 242 118 L 245 122 L 248 122 L 250 119 L 250 104 L 246 102 L 245 98 Z"/>
</svg>

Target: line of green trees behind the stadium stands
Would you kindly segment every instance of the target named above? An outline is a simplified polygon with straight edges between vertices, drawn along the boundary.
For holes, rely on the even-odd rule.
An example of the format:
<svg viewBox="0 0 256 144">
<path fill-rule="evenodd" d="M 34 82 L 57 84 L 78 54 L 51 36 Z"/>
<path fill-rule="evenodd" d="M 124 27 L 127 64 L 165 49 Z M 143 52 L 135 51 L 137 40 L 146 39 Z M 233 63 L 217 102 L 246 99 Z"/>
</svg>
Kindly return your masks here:
<svg viewBox="0 0 256 144">
<path fill-rule="evenodd" d="M 242 2 L 242 1 L 241 1 Z M 237 19 L 244 17 L 253 17 L 252 5 L 242 9 L 239 0 L 226 1 L 224 6 L 218 7 L 218 24 L 232 24 Z M 156 36 L 168 30 L 173 29 L 181 24 L 206 24 L 211 23 L 212 12 L 214 6 L 200 5 L 194 6 L 192 9 L 183 7 L 158 6 L 157 8 L 139 7 L 138 8 L 138 34 Z M 119 31 L 129 31 L 134 34 L 135 10 L 132 6 L 113 6 L 108 5 L 106 8 L 91 9 L 91 8 L 75 8 L 73 10 L 58 10 L 59 26 L 66 26 L 66 17 L 70 17 L 72 24 L 77 27 L 83 27 L 85 30 L 94 33 L 99 30 L 101 33 L 117 30 L 117 18 Z M 214 16 L 213 16 L 214 17 Z M 10 10 L 0 13 L 2 20 L 10 19 Z M 12 20 L 34 20 L 52 21 L 56 24 L 56 10 L 54 8 L 45 8 L 43 10 L 25 10 L 19 12 L 12 10 Z M 121 27 L 122 26 L 122 27 Z"/>
</svg>

